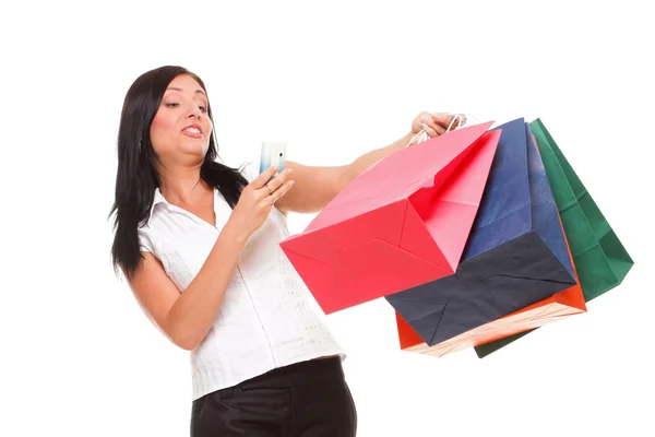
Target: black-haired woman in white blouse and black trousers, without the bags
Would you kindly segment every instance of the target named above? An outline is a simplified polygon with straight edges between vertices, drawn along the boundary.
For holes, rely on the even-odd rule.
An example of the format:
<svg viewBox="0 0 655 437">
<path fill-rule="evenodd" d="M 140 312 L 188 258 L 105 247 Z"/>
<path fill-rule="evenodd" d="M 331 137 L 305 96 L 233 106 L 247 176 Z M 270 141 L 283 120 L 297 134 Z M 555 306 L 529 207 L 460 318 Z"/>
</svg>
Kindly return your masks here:
<svg viewBox="0 0 655 437">
<path fill-rule="evenodd" d="M 136 79 L 118 134 L 115 268 L 168 339 L 191 351 L 192 436 L 354 436 L 345 354 L 278 243 L 288 212 L 324 208 L 365 168 L 452 119 L 419 115 L 395 143 L 341 167 L 261 175 L 216 162 L 203 82 Z"/>
</svg>

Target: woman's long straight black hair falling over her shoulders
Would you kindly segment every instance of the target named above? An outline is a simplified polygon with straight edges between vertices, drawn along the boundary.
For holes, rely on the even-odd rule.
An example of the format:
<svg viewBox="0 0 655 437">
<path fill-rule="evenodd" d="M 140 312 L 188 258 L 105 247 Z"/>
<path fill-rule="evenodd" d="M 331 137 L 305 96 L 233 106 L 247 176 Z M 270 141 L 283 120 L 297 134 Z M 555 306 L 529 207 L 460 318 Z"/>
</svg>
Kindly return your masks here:
<svg viewBox="0 0 655 437">
<path fill-rule="evenodd" d="M 122 269 L 128 279 L 142 259 L 138 228 L 147 218 L 155 189 L 159 187 L 159 175 L 155 169 L 157 156 L 150 139 L 151 125 L 166 87 L 179 74 L 193 78 L 206 93 L 205 85 L 198 75 L 182 67 L 166 66 L 139 76 L 128 90 L 123 102 L 118 129 L 116 198 L 109 217 L 116 213 L 111 246 L 114 270 L 118 274 L 119 268 Z M 207 116 L 213 122 L 211 105 L 207 105 Z M 217 188 L 234 208 L 248 181 L 238 169 L 216 162 L 217 157 L 214 130 L 200 176 Z"/>
</svg>

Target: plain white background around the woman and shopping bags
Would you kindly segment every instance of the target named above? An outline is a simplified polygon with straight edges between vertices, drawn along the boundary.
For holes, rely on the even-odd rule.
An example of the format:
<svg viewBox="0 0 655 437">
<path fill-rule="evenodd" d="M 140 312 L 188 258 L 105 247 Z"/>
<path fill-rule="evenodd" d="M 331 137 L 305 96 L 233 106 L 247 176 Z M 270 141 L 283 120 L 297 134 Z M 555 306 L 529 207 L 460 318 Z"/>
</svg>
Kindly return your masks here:
<svg viewBox="0 0 655 437">
<path fill-rule="evenodd" d="M 300 163 L 348 163 L 420 110 L 540 117 L 635 267 L 587 314 L 485 359 L 400 352 L 383 300 L 330 316 L 358 435 L 653 435 L 647 2 L 12 3 L 0 19 L 0 435 L 188 435 L 188 353 L 109 263 L 122 99 L 163 64 L 205 80 L 233 166 L 265 139 L 288 140 Z M 291 232 L 311 218 L 293 216 Z"/>
</svg>

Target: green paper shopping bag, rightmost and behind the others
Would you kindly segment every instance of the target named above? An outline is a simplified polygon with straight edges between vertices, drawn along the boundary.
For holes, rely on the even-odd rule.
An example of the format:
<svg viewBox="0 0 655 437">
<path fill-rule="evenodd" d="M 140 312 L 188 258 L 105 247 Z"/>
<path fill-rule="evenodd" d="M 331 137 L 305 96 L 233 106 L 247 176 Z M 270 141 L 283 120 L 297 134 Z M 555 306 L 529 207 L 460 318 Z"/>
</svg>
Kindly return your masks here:
<svg viewBox="0 0 655 437">
<path fill-rule="evenodd" d="M 585 302 L 619 285 L 634 262 L 540 119 L 529 123 L 569 240 Z M 481 358 L 532 331 L 475 347 Z"/>
</svg>

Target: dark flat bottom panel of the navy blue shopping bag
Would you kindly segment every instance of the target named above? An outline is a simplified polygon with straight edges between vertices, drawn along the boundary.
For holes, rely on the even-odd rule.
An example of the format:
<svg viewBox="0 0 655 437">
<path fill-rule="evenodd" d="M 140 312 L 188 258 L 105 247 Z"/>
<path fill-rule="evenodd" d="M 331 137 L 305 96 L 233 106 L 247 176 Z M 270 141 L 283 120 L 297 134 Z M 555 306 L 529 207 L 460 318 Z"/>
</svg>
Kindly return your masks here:
<svg viewBox="0 0 655 437">
<path fill-rule="evenodd" d="M 448 277 L 386 299 L 428 345 L 496 320 L 575 281 L 535 233 L 460 267 Z"/>
</svg>

